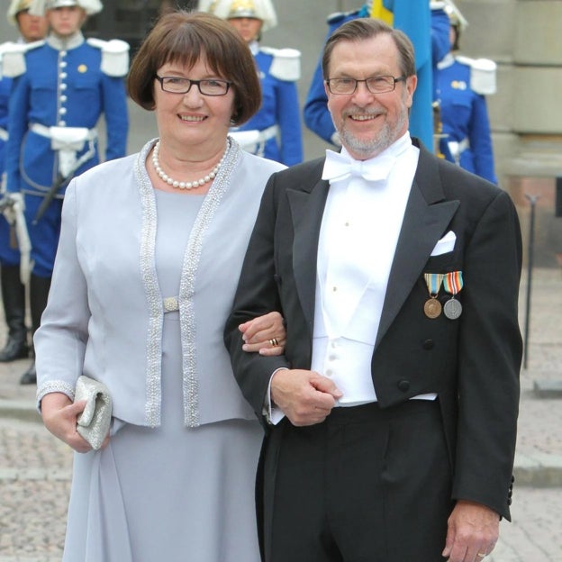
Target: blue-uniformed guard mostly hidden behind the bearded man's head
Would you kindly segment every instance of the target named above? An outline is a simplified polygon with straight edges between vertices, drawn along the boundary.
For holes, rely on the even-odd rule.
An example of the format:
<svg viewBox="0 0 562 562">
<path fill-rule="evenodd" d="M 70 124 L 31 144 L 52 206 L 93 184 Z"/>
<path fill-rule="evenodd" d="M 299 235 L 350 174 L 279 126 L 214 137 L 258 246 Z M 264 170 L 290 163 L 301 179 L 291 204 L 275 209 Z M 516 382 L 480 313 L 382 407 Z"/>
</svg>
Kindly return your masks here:
<svg viewBox="0 0 562 562">
<path fill-rule="evenodd" d="M 431 7 L 431 59 L 437 63 L 449 50 L 449 21 L 443 3 L 430 3 Z M 358 10 L 351 12 L 337 12 L 328 16 L 329 31 L 326 40 L 341 25 L 350 20 L 369 17 L 373 9 L 373 1 L 369 0 Z M 306 95 L 304 103 L 304 123 L 324 141 L 335 146 L 341 146 L 339 135 L 331 121 L 328 112 L 328 96 L 324 90 L 324 77 L 322 77 L 322 60 L 318 61 L 314 70 L 313 81 Z"/>
</svg>

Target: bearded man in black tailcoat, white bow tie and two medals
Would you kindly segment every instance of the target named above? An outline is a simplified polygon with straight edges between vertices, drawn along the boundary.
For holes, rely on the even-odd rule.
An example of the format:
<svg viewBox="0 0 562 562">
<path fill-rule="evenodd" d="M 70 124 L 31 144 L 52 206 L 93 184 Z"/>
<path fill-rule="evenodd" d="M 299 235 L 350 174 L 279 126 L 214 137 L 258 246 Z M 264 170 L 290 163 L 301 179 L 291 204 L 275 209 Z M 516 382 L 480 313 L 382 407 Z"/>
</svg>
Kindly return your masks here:
<svg viewBox="0 0 562 562">
<path fill-rule="evenodd" d="M 322 69 L 343 148 L 269 180 L 225 328 L 268 432 L 265 560 L 474 562 L 510 517 L 517 215 L 411 141 L 402 32 L 345 23 Z M 285 355 L 245 354 L 243 322 L 270 310 Z"/>
</svg>

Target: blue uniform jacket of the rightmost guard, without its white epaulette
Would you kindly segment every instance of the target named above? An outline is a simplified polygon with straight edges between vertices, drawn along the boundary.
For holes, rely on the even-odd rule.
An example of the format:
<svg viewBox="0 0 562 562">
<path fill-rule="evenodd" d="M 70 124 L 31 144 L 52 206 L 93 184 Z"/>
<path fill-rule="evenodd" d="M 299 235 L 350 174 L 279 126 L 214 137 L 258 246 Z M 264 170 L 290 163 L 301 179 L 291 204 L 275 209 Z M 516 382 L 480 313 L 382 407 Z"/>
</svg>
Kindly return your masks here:
<svg viewBox="0 0 562 562">
<path fill-rule="evenodd" d="M 470 72 L 458 60 L 438 71 L 441 122 L 448 135 L 440 141 L 441 152 L 454 162 L 447 143 L 467 141 L 468 148 L 460 153 L 461 168 L 497 184 L 485 96 L 470 88 Z"/>
</svg>

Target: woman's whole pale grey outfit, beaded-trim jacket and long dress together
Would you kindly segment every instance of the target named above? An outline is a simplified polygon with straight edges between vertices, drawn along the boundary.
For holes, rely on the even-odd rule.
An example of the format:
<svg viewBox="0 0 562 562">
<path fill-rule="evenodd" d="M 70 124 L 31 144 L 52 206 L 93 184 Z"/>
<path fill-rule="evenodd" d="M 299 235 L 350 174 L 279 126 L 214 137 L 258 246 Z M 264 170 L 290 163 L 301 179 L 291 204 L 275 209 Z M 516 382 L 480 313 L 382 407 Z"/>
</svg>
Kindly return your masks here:
<svg viewBox="0 0 562 562">
<path fill-rule="evenodd" d="M 232 385 L 222 326 L 256 195 L 279 167 L 232 145 L 230 169 L 208 195 L 169 194 L 147 185 L 149 150 L 136 164 L 108 163 L 69 186 L 59 263 L 35 338 L 39 400 L 49 392 L 72 398 L 82 371 L 103 380 L 114 399 L 109 446 L 74 457 L 63 560 L 258 562 L 262 430 Z M 255 176 L 249 180 L 256 173 L 257 189 Z M 242 228 L 233 243 L 228 229 Z M 179 310 L 162 306 L 170 295 Z"/>
</svg>

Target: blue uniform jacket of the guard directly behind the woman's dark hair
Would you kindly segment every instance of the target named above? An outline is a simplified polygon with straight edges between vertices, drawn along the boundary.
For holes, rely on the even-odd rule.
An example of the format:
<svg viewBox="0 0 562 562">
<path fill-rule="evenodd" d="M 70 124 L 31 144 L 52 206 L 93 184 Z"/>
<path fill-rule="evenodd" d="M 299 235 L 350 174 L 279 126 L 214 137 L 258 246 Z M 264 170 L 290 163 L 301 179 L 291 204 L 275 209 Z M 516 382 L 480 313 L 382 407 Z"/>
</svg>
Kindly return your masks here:
<svg viewBox="0 0 562 562">
<path fill-rule="evenodd" d="M 296 83 L 281 80 L 269 73 L 273 55 L 262 50 L 255 54 L 261 82 L 262 103 L 258 113 L 233 131 L 264 131 L 277 125 L 280 143 L 276 138 L 266 142 L 263 156 L 286 166 L 303 161 L 301 113 Z"/>
</svg>

